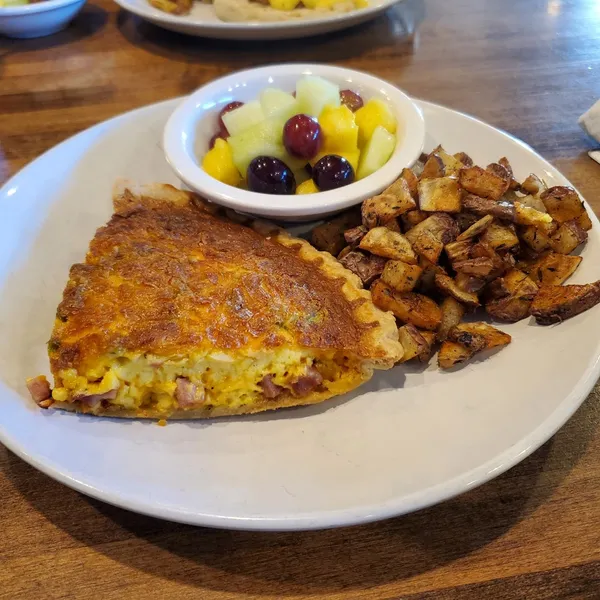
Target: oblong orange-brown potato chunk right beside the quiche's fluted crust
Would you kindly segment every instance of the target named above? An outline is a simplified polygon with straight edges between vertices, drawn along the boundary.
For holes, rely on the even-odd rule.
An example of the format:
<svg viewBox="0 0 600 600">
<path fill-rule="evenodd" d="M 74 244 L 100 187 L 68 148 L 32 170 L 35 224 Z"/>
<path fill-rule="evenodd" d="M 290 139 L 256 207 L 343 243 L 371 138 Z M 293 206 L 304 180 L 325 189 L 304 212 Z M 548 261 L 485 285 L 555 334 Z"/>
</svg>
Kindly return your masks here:
<svg viewBox="0 0 600 600">
<path fill-rule="evenodd" d="M 381 279 L 371 287 L 371 296 L 375 306 L 391 311 L 403 323 L 419 329 L 435 331 L 442 320 L 442 311 L 431 298 L 414 292 L 395 292 Z"/>
</svg>

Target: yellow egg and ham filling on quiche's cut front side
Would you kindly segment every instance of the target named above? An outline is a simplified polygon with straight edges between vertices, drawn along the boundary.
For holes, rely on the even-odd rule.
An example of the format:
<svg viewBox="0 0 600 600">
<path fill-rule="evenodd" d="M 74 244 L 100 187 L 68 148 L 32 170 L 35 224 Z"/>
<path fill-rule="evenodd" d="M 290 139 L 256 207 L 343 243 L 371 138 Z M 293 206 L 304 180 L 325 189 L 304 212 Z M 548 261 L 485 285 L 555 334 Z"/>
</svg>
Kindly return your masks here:
<svg viewBox="0 0 600 600">
<path fill-rule="evenodd" d="M 306 350 L 258 352 L 240 357 L 222 352 L 186 357 L 125 353 L 109 355 L 84 374 L 58 372 L 52 399 L 77 403 L 80 410 L 152 409 L 165 415 L 175 410 L 227 406 L 239 408 L 285 395 L 302 397 L 337 392 L 340 379 L 361 376 L 358 365 L 338 353 L 315 357 Z"/>
</svg>

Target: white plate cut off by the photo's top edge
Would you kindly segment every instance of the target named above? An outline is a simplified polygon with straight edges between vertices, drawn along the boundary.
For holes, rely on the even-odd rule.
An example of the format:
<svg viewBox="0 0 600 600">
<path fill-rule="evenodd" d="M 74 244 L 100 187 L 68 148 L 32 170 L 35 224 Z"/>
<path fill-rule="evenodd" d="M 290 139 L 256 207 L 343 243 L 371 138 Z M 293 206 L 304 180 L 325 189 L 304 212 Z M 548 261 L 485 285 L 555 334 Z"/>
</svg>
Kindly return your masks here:
<svg viewBox="0 0 600 600">
<path fill-rule="evenodd" d="M 331 33 L 366 23 L 403 0 L 370 0 L 370 6 L 350 13 L 333 14 L 322 19 L 282 23 L 226 23 L 215 15 L 210 4 L 194 2 L 189 15 L 176 16 L 150 6 L 147 0 L 115 0 L 122 8 L 159 27 L 198 37 L 221 40 L 283 40 Z"/>
</svg>

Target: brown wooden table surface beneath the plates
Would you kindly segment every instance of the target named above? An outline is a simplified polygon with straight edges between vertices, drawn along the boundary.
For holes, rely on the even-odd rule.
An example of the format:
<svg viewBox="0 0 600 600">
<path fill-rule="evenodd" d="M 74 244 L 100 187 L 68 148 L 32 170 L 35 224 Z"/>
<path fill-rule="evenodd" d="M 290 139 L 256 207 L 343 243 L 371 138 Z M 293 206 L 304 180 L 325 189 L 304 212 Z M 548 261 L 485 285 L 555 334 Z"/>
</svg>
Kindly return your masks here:
<svg viewBox="0 0 600 600">
<path fill-rule="evenodd" d="M 176 35 L 90 0 L 63 33 L 0 39 L 0 182 L 103 119 L 234 69 L 298 60 L 371 71 L 510 131 L 600 212 L 594 143 L 577 126 L 600 97 L 597 0 L 407 0 L 348 32 L 264 44 Z M 598 599 L 599 401 L 597 387 L 551 441 L 479 489 L 325 532 L 138 516 L 1 448 L 0 598 Z"/>
</svg>

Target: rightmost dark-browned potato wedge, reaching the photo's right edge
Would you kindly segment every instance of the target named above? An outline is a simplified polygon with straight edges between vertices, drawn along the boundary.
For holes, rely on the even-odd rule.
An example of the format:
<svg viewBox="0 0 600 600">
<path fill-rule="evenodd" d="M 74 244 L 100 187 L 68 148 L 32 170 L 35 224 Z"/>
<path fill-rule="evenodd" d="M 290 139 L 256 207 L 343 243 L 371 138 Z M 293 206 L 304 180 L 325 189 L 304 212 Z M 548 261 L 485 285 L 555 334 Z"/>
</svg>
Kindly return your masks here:
<svg viewBox="0 0 600 600">
<path fill-rule="evenodd" d="M 600 281 L 586 285 L 543 285 L 531 314 L 539 325 L 561 323 L 585 312 L 600 302 Z"/>
</svg>

